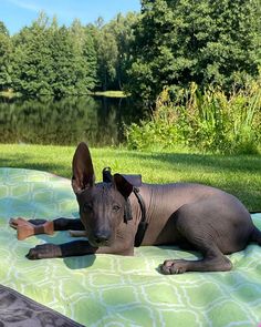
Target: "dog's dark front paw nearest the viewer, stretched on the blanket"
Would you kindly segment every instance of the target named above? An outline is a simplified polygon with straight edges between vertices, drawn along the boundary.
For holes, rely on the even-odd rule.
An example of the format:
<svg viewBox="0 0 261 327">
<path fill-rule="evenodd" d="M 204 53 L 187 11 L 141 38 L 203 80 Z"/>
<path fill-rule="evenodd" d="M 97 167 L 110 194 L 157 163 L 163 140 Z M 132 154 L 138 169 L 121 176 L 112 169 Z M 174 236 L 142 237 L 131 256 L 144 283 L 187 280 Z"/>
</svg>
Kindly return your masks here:
<svg viewBox="0 0 261 327">
<path fill-rule="evenodd" d="M 61 257 L 61 247 L 55 244 L 42 244 L 30 248 L 25 257 L 30 260 Z"/>
</svg>

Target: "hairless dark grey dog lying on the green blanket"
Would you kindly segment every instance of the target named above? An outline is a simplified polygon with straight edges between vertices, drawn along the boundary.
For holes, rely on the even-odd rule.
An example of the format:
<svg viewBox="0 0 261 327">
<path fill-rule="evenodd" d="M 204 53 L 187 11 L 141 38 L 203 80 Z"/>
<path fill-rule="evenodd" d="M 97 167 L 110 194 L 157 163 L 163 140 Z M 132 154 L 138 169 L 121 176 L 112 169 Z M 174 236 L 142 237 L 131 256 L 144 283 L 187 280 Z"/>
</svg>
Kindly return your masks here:
<svg viewBox="0 0 261 327">
<path fill-rule="evenodd" d="M 159 266 L 163 274 L 230 270 L 232 264 L 226 254 L 241 251 L 250 242 L 261 245 L 261 232 L 233 195 L 200 184 L 144 184 L 140 176 L 121 174 L 115 174 L 112 183 L 95 184 L 88 147 L 80 143 L 73 157 L 72 187 L 79 202 L 81 222 L 58 218 L 53 223 L 55 231 L 85 229 L 88 241 L 38 245 L 27 257 L 133 255 L 142 218 L 134 186 L 138 186 L 144 200 L 148 223 L 142 245 L 178 245 L 199 251 L 202 256 L 197 260 L 165 260 Z M 127 198 L 133 219 L 126 222 L 124 207 Z M 36 219 L 31 222 L 38 224 Z"/>
</svg>

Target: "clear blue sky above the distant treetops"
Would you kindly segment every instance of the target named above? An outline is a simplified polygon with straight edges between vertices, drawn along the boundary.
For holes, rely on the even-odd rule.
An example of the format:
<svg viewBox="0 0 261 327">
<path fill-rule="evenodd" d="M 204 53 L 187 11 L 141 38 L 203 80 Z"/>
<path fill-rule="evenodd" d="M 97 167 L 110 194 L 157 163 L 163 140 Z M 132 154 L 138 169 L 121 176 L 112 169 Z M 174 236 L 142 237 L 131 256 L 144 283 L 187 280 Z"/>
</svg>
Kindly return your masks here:
<svg viewBox="0 0 261 327">
<path fill-rule="evenodd" d="M 70 25 L 79 18 L 83 24 L 94 22 L 98 17 L 105 21 L 118 12 L 139 11 L 139 0 L 1 0 L 0 21 L 11 34 L 30 25 L 40 11 L 49 17 L 56 16 L 60 24 Z"/>
</svg>

